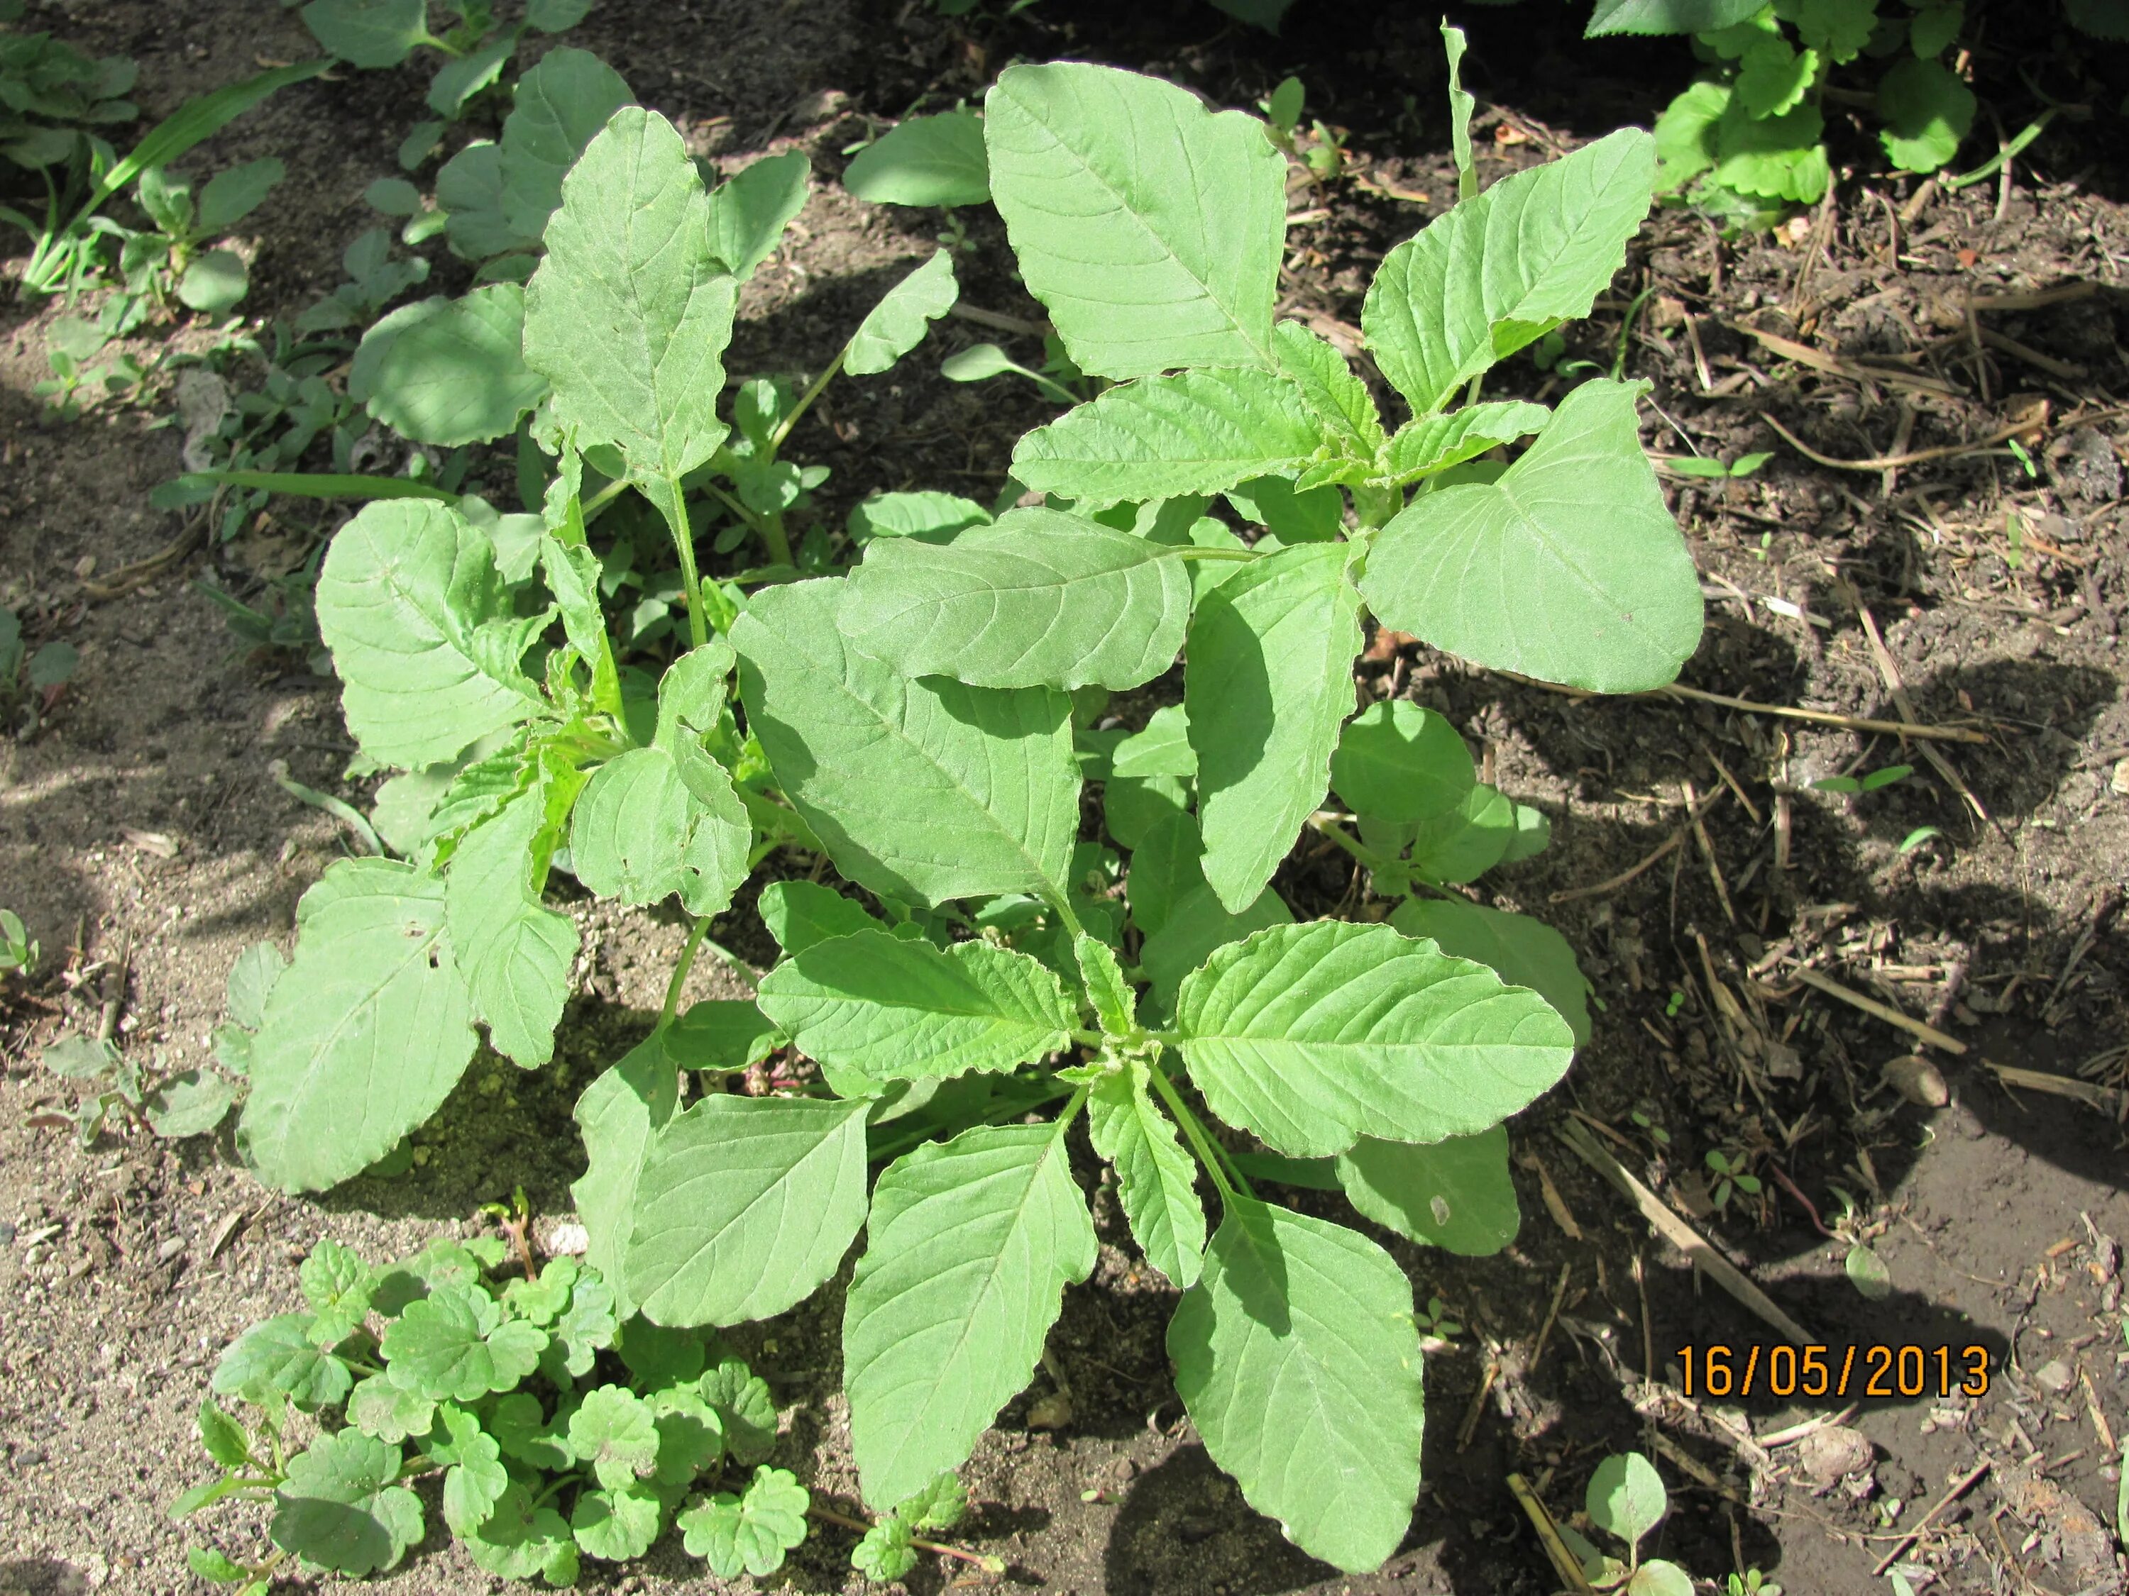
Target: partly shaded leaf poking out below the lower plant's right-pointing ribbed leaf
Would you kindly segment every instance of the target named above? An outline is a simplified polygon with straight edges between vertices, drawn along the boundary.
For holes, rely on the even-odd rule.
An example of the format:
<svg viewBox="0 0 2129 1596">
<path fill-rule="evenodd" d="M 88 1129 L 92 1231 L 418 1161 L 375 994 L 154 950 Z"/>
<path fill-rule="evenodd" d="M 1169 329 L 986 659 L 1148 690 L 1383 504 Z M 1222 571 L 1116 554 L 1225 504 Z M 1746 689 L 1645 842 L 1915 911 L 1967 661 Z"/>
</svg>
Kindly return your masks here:
<svg viewBox="0 0 2129 1596">
<path fill-rule="evenodd" d="M 1501 1251 L 1522 1228 L 1503 1126 L 1424 1147 L 1360 1136 L 1339 1153 L 1337 1177 L 1375 1224 L 1465 1258 Z"/>
</svg>

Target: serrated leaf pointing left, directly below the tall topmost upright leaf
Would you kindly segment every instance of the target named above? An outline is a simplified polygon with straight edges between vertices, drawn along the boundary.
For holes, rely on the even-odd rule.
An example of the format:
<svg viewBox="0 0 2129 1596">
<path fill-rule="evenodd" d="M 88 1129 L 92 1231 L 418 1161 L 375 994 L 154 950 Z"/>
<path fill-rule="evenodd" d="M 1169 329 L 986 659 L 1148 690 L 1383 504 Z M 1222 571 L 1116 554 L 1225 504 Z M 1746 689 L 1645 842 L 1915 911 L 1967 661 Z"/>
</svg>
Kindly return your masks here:
<svg viewBox="0 0 2129 1596">
<path fill-rule="evenodd" d="M 1013 477 L 1088 504 L 1216 494 L 1299 470 L 1322 440 L 1322 419 L 1277 372 L 1186 370 L 1122 383 L 1028 432 Z"/>
</svg>

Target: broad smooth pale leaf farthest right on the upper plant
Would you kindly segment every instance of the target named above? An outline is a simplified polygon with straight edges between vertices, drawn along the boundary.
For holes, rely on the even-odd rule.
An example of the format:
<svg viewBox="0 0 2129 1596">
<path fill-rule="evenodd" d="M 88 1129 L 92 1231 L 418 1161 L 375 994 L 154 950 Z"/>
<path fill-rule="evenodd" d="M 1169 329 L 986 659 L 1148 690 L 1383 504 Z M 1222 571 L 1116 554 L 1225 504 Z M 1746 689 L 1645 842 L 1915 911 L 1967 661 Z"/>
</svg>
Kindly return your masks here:
<svg viewBox="0 0 2129 1596">
<path fill-rule="evenodd" d="M 1588 381 L 1499 481 L 1401 511 L 1360 579 L 1382 624 L 1592 692 L 1671 681 L 1701 643 L 1701 579 L 1641 453 L 1637 394 Z"/>
</svg>

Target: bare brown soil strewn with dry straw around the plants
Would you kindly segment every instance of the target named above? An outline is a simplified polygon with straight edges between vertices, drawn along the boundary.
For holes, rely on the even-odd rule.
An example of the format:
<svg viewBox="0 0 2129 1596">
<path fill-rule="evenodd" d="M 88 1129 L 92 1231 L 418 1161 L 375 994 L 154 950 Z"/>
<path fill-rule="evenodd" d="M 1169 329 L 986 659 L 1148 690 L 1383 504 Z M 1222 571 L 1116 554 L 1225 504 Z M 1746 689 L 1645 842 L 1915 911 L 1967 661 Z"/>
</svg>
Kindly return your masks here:
<svg viewBox="0 0 2129 1596">
<path fill-rule="evenodd" d="M 935 215 L 841 192 L 841 151 L 977 98 L 1016 55 L 1105 60 L 1239 106 L 1299 74 L 1348 140 L 1348 172 L 1297 168 L 1282 313 L 1358 347 L 1373 264 L 1456 192 L 1435 13 L 1299 4 L 1273 38 L 1196 0 L 1001 11 L 605 0 L 571 34 L 722 168 L 779 149 L 813 160 L 794 243 L 743 300 L 735 375 L 820 362 L 935 247 Z M 1646 126 L 1693 70 L 1680 40 L 1582 43 L 1580 13 L 1539 0 L 1460 21 L 1486 181 Z M 26 26 L 136 55 L 149 119 L 311 53 L 294 13 L 268 4 L 51 0 Z M 1499 372 L 1531 398 L 1571 385 L 1573 362 L 1648 381 L 1658 458 L 1771 451 L 1748 477 L 1667 475 L 1710 606 L 1693 692 L 1595 700 L 1399 634 L 1358 662 L 1363 702 L 1439 709 L 1482 749 L 1486 781 L 1550 817 L 1552 847 L 1507 868 L 1497 902 L 1561 926 L 1599 1009 L 1563 1090 L 1512 1126 L 1518 1243 L 1484 1260 L 1388 1243 L 1456 1326 L 1431 1341 L 1426 1485 L 1403 1549 L 1377 1575 L 1337 1577 L 1243 1504 L 1173 1396 L 1173 1292 L 1101 1192 L 1101 1264 L 964 1470 L 967 1545 L 1009 1564 L 1003 1583 L 1550 1592 L 1507 1477 L 1567 1522 L 1595 1464 L 1633 1447 L 1673 1502 L 1646 1551 L 1707 1587 L 1759 1568 L 1795 1594 L 1867 1592 L 1891 1568 L 1916 1592 L 2123 1590 L 2129 72 L 2123 47 L 2067 34 L 2052 6 L 1999 4 L 1988 28 L 1976 87 L 2003 130 L 2040 104 L 2033 85 L 2089 115 L 1957 192 L 1884 174 L 1850 130 L 1829 200 L 1767 236 L 1656 211 L 1552 370 Z M 398 174 L 422 87 L 413 68 L 336 70 L 204 147 L 290 168 L 247 223 L 249 313 L 294 313 L 339 281 L 339 251 L 373 221 L 362 189 Z M 1969 164 L 1991 138 L 1969 140 Z M 964 296 L 992 317 L 943 323 L 890 381 L 807 423 L 807 458 L 835 468 L 830 526 L 873 485 L 988 498 L 1013 438 L 1050 413 L 1033 389 L 935 375 L 979 340 L 1039 362 L 1037 340 L 1001 332 L 1039 306 L 996 217 L 967 226 Z M 247 1177 L 228 1132 L 113 1128 L 81 1147 L 53 1128 L 75 1085 L 38 1064 L 45 1043 L 96 1034 L 111 1004 L 128 1055 L 200 1064 L 236 951 L 285 945 L 296 898 L 347 847 L 270 764 L 366 796 L 345 779 L 334 683 L 285 653 L 247 655 L 189 585 L 213 570 L 255 589 L 345 511 L 275 500 L 230 545 L 187 543 L 145 579 L 98 583 L 185 536 L 181 513 L 147 498 L 179 472 L 181 432 L 158 419 L 168 398 L 75 421 L 32 398 L 55 313 L 11 300 L 0 345 L 0 602 L 32 641 L 81 653 L 38 730 L 0 741 L 0 907 L 45 947 L 36 979 L 0 987 L 0 1592 L 177 1592 L 198 1581 L 166 1509 L 200 1477 L 194 1413 L 219 1351 L 296 1302 L 296 1260 L 321 1234 L 381 1260 L 471 1234 L 477 1207 L 519 1185 L 543 1224 L 566 1217 L 571 1102 L 647 1030 L 686 926 L 577 904 L 588 996 L 556 1062 L 477 1064 L 398 1179 L 285 1198 Z M 1893 766 L 1912 772 L 1854 792 Z M 1305 915 L 1367 913 L 1352 862 L 1316 838 L 1277 890 Z M 711 934 L 773 955 L 752 894 Z M 713 960 L 694 985 L 745 990 Z M 783 1409 L 775 1462 L 849 1507 L 841 1287 L 735 1343 Z M 1852 1368 L 1846 1396 L 1769 1394 L 1790 1330 Z M 1865 1379 L 1880 1347 L 1882 1396 Z M 1718 1390 L 1718 1358 L 1739 1379 L 1756 1360 L 1756 1385 Z M 849 1545 L 818 1532 L 790 1587 L 862 1590 Z M 692 1568 L 662 1547 L 585 1583 L 715 1585 Z M 971 1577 L 920 1568 L 909 1583 Z M 434 1530 L 375 1585 L 500 1581 Z"/>
</svg>

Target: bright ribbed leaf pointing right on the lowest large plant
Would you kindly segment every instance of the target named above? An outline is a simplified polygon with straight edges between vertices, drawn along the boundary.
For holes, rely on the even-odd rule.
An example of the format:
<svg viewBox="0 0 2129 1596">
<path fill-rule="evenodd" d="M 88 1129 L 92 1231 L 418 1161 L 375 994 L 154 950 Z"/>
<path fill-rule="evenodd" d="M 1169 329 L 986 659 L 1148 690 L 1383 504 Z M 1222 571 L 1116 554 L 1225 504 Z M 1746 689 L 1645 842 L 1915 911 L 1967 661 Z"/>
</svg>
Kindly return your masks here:
<svg viewBox="0 0 2129 1596">
<path fill-rule="evenodd" d="M 1184 979 L 1175 1032 L 1216 1115 L 1294 1158 L 1360 1136 L 1469 1136 L 1567 1073 L 1535 992 L 1388 926 L 1320 919 L 1231 943 Z"/>
</svg>

